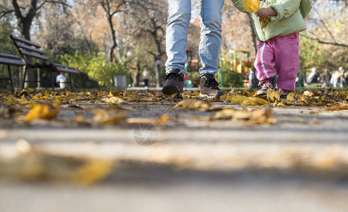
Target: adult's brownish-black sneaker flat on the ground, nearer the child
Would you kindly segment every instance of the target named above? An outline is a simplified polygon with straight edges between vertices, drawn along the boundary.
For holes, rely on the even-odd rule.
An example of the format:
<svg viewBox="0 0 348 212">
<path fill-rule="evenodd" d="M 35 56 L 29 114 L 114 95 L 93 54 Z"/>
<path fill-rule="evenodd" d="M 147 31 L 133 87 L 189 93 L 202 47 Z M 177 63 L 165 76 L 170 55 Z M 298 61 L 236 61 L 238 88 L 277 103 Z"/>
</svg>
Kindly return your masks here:
<svg viewBox="0 0 348 212">
<path fill-rule="evenodd" d="M 200 98 L 220 98 L 223 95 L 223 91 L 218 88 L 219 83 L 215 81 L 213 74 L 206 73 L 201 77 L 199 82 L 199 97 Z"/>
</svg>

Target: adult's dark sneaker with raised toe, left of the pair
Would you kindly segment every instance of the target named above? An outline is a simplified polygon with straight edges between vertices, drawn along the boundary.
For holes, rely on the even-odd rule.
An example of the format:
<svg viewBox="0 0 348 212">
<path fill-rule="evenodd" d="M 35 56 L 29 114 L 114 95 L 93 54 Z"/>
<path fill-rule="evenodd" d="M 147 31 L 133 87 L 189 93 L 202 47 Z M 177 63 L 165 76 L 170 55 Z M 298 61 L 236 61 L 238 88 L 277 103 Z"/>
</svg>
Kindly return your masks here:
<svg viewBox="0 0 348 212">
<path fill-rule="evenodd" d="M 176 98 L 182 99 L 182 90 L 184 88 L 184 73 L 180 73 L 179 69 L 173 69 L 166 76 L 164 81 L 162 93 L 166 95 L 173 95 L 177 93 Z"/>
</svg>

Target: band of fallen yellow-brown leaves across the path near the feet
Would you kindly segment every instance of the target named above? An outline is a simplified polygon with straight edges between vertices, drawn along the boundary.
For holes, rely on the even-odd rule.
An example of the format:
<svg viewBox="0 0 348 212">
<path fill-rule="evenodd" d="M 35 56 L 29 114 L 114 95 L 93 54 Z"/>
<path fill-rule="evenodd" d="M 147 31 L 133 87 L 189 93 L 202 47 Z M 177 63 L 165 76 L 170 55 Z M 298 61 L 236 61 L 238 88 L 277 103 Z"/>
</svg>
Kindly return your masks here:
<svg viewBox="0 0 348 212">
<path fill-rule="evenodd" d="M 103 126 L 109 124 L 168 124 L 169 112 L 186 110 L 211 112 L 203 120 L 232 119 L 243 124 L 276 124 L 272 107 L 318 106 L 321 110 L 348 110 L 347 90 L 304 90 L 290 93 L 286 100 L 276 90 L 256 97 L 247 90 L 233 91 L 220 100 L 199 100 L 199 91 L 184 93 L 176 100 L 157 91 L 96 90 L 69 92 L 23 90 L 21 93 L 0 93 L 0 126 L 60 125 Z M 223 103 L 222 106 L 214 103 Z M 145 107 L 138 107 L 145 105 Z M 226 106 L 230 105 L 230 106 Z M 235 109 L 233 105 L 264 106 Z M 161 116 L 144 117 L 152 106 L 162 110 Z"/>
</svg>

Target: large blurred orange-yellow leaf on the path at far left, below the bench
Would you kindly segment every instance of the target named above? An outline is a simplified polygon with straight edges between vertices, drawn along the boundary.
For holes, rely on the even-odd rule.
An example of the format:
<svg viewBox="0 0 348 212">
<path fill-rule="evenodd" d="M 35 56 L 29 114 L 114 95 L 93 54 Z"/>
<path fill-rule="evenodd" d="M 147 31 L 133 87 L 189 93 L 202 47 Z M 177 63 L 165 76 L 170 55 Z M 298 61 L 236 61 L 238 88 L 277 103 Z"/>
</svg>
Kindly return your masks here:
<svg viewBox="0 0 348 212">
<path fill-rule="evenodd" d="M 55 110 L 51 110 L 49 105 L 39 104 L 35 105 L 33 109 L 31 109 L 26 117 L 24 117 L 24 122 L 29 122 L 33 119 L 53 119 L 60 112 L 60 109 L 57 108 Z"/>
</svg>

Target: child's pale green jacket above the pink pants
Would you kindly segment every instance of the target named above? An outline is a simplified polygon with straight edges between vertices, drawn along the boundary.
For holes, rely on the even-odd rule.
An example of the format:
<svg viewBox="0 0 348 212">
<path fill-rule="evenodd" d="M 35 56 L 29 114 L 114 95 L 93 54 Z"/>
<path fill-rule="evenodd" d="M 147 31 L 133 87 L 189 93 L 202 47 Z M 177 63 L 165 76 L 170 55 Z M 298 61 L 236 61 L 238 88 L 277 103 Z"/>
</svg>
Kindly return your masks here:
<svg viewBox="0 0 348 212">
<path fill-rule="evenodd" d="M 304 1 L 304 0 L 302 0 Z M 243 13 L 247 13 L 242 0 L 232 0 L 235 7 Z M 264 0 L 260 8 L 274 8 L 276 16 L 271 16 L 271 24 L 261 28 L 259 17 L 252 13 L 257 40 L 266 41 L 276 36 L 288 35 L 305 30 L 305 21 L 300 11 L 301 0 Z M 309 12 L 309 11 L 308 11 Z M 304 17 L 307 14 L 304 15 Z"/>
</svg>

